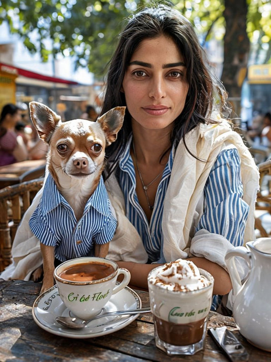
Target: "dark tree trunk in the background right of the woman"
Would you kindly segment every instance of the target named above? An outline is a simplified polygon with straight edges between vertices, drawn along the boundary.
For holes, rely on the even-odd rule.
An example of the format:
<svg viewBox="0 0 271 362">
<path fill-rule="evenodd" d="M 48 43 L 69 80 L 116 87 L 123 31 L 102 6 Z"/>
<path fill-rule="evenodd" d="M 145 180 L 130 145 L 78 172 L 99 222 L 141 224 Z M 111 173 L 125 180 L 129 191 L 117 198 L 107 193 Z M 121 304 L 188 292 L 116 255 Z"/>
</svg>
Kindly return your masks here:
<svg viewBox="0 0 271 362">
<path fill-rule="evenodd" d="M 247 0 L 225 0 L 224 65 L 221 80 L 229 102 L 240 116 L 242 84 L 247 74 L 250 41 L 247 35 Z"/>
</svg>

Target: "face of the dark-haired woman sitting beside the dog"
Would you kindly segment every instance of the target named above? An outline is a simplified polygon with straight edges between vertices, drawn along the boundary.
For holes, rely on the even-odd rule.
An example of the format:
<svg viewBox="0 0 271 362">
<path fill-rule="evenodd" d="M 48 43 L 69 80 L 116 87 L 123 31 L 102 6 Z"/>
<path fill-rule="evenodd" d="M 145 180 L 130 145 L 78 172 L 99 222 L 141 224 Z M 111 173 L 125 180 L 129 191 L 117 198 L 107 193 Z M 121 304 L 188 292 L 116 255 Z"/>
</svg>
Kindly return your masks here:
<svg viewBox="0 0 271 362">
<path fill-rule="evenodd" d="M 174 41 L 164 35 L 142 40 L 123 80 L 132 122 L 146 129 L 172 126 L 184 109 L 188 89 L 184 58 Z"/>
</svg>

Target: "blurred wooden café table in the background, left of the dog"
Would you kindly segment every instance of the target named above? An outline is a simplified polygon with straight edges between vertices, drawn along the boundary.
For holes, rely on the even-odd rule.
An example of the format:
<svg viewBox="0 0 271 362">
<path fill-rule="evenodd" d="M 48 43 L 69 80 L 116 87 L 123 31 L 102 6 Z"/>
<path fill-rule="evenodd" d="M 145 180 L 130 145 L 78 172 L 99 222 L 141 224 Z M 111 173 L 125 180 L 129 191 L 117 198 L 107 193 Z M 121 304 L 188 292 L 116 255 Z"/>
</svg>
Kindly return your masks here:
<svg viewBox="0 0 271 362">
<path fill-rule="evenodd" d="M 26 160 L 0 166 L 0 188 L 41 177 L 46 159 Z"/>
</svg>

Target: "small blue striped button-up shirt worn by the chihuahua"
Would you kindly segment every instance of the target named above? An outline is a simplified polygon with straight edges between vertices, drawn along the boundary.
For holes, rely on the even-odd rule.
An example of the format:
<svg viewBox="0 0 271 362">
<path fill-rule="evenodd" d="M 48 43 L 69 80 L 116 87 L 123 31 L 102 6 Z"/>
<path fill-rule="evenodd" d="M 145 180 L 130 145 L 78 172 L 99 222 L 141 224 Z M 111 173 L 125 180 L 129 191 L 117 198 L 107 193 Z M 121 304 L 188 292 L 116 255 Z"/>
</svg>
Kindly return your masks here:
<svg viewBox="0 0 271 362">
<path fill-rule="evenodd" d="M 39 206 L 29 220 L 33 234 L 41 243 L 55 246 L 55 257 L 60 261 L 93 256 L 94 241 L 97 244 L 109 242 L 116 225 L 102 179 L 77 221 L 73 209 L 57 190 L 50 174 Z"/>
</svg>

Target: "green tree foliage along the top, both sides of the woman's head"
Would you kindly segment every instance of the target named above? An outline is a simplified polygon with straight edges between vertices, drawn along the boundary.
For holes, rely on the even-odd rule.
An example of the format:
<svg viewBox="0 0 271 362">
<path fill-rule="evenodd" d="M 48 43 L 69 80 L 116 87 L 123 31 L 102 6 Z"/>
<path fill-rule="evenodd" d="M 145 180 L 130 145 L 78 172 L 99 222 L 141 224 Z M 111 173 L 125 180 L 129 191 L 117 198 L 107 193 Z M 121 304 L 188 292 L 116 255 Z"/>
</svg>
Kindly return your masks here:
<svg viewBox="0 0 271 362">
<path fill-rule="evenodd" d="M 256 38 L 259 46 L 270 46 L 269 0 L 247 0 L 247 3 L 247 33 L 251 42 Z M 48 61 L 50 53 L 54 57 L 57 53 L 75 55 L 76 66 L 88 66 L 100 77 L 114 50 L 123 20 L 145 4 L 151 2 L 0 0 L 0 23 L 8 21 L 11 32 L 22 37 L 31 53 L 40 52 L 44 62 Z M 194 23 L 203 45 L 210 37 L 223 38 L 224 0 L 173 0 L 172 4 Z M 233 38 L 232 43 L 234 41 Z"/>
</svg>

